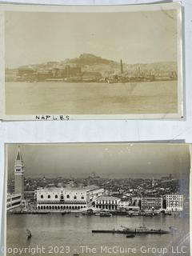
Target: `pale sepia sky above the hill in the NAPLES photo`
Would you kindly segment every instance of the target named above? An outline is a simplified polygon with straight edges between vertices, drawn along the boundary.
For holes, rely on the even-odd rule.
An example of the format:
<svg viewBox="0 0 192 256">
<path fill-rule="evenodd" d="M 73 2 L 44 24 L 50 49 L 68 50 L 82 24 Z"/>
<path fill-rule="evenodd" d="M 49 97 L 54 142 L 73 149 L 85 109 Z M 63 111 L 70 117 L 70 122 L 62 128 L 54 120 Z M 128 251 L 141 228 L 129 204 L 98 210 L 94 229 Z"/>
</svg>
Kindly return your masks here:
<svg viewBox="0 0 192 256">
<path fill-rule="evenodd" d="M 175 10 L 132 13 L 6 12 L 6 67 L 90 53 L 126 63 L 176 61 Z"/>
</svg>

